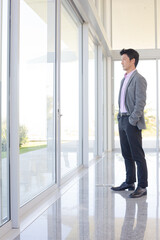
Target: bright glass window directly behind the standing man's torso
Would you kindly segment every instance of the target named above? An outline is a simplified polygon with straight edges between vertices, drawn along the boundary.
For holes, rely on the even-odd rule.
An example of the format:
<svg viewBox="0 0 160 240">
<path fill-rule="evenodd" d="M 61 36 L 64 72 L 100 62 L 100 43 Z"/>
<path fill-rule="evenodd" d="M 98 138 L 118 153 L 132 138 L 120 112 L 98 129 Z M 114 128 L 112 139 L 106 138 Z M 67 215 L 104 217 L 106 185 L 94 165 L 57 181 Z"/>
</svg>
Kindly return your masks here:
<svg viewBox="0 0 160 240">
<path fill-rule="evenodd" d="M 146 129 L 143 130 L 143 146 L 144 148 L 155 149 L 156 148 L 156 62 L 155 60 L 140 60 L 137 65 L 138 72 L 145 77 L 147 81 L 147 100 L 145 106 L 145 121 Z M 119 148 L 118 137 L 118 95 L 120 81 L 124 76 L 120 61 L 114 63 L 114 78 L 115 78 L 115 148 Z"/>
</svg>

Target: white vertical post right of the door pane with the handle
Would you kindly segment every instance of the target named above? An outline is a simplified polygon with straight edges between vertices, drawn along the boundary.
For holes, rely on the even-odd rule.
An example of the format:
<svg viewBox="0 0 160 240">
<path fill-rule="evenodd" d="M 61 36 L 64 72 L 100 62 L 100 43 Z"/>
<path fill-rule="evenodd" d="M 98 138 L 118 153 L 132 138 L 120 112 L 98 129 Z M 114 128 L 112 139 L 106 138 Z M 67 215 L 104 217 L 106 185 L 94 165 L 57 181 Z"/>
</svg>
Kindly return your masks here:
<svg viewBox="0 0 160 240">
<path fill-rule="evenodd" d="M 88 167 L 88 24 L 83 24 L 83 165 Z"/>
</svg>

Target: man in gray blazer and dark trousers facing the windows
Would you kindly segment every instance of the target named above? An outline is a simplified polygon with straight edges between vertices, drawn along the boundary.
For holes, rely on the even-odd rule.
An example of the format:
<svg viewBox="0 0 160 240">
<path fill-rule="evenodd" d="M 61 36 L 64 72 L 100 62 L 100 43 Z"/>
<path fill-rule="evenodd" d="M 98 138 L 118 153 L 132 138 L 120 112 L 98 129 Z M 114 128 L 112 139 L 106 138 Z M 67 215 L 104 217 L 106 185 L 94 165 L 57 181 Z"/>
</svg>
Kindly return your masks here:
<svg viewBox="0 0 160 240">
<path fill-rule="evenodd" d="M 135 190 L 136 170 L 138 185 L 130 198 L 147 195 L 148 174 L 145 154 L 142 148 L 142 129 L 145 129 L 144 106 L 146 104 L 147 83 L 136 66 L 139 54 L 134 49 L 122 49 L 120 52 L 122 67 L 126 71 L 119 92 L 118 126 L 122 156 L 125 161 L 126 180 L 114 191 Z"/>
</svg>

